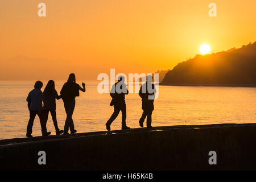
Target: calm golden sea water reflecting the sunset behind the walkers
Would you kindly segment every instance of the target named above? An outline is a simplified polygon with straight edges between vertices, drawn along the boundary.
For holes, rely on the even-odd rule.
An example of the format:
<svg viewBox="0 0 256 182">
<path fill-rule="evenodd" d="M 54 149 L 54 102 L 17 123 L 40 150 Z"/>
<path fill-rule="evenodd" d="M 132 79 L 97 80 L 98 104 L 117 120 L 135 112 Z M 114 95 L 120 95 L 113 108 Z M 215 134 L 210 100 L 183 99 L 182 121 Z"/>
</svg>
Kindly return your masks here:
<svg viewBox="0 0 256 182">
<path fill-rule="evenodd" d="M 44 86 L 46 85 L 44 81 Z M 80 83 L 80 82 L 79 82 Z M 95 81 L 86 81 L 86 92 L 76 98 L 73 114 L 78 133 L 105 131 L 105 123 L 113 113 L 109 106 L 109 94 L 97 92 Z M 56 81 L 59 93 L 64 81 Z M 80 83 L 81 84 L 81 83 Z M 26 136 L 29 119 L 26 97 L 33 89 L 34 81 L 0 81 L 0 139 Z M 44 87 L 43 87 L 44 89 Z M 43 90 L 42 89 L 42 90 Z M 57 121 L 63 129 L 65 110 L 63 101 L 56 101 Z M 142 114 L 138 94 L 126 96 L 127 126 L 139 127 Z M 159 86 L 159 98 L 155 100 L 152 126 L 204 125 L 213 123 L 254 123 L 256 121 L 256 88 L 207 87 L 207 86 Z M 112 130 L 121 129 L 121 113 L 112 123 Z M 47 130 L 55 134 L 49 115 Z M 34 121 L 34 136 L 40 136 L 40 123 Z"/>
</svg>

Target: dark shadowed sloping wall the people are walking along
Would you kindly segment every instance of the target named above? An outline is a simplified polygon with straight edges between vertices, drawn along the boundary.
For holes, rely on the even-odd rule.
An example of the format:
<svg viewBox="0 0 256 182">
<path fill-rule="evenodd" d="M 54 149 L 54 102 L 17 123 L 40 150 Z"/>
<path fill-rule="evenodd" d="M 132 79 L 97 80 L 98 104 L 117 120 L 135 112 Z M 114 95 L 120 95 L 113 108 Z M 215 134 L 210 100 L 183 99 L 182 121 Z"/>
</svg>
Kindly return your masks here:
<svg viewBox="0 0 256 182">
<path fill-rule="evenodd" d="M 209 151 L 217 165 L 209 165 Z M 256 169 L 255 152 L 256 124 L 165 126 L 0 140 L 0 169 Z"/>
</svg>

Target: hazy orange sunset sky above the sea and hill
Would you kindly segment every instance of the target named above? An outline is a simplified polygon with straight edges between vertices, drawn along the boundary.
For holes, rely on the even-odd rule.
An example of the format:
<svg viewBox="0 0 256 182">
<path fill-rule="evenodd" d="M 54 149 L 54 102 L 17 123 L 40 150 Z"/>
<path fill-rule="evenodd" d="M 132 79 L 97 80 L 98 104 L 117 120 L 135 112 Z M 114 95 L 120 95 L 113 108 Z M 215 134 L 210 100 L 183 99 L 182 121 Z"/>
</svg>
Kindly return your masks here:
<svg viewBox="0 0 256 182">
<path fill-rule="evenodd" d="M 37 7 L 46 3 L 46 17 Z M 217 5 L 217 17 L 208 5 Z M 208 43 L 211 52 L 256 40 L 256 1 L 1 0 L 0 80 L 96 80 L 172 69 Z"/>
</svg>

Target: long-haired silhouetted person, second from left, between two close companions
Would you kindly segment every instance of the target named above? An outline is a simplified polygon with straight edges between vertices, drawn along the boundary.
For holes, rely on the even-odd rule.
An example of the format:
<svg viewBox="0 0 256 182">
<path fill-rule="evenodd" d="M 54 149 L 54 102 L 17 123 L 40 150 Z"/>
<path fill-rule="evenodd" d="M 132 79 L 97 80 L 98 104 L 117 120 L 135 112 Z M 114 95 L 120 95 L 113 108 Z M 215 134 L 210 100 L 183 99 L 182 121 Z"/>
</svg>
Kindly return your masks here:
<svg viewBox="0 0 256 182">
<path fill-rule="evenodd" d="M 59 96 L 57 91 L 55 90 L 55 82 L 53 80 L 49 80 L 43 92 L 44 106 L 42 117 L 47 123 L 49 112 L 51 113 L 56 135 L 63 133 L 63 130 L 60 130 L 58 127 L 56 117 L 56 99 L 59 100 L 60 98 L 61 96 Z"/>
</svg>

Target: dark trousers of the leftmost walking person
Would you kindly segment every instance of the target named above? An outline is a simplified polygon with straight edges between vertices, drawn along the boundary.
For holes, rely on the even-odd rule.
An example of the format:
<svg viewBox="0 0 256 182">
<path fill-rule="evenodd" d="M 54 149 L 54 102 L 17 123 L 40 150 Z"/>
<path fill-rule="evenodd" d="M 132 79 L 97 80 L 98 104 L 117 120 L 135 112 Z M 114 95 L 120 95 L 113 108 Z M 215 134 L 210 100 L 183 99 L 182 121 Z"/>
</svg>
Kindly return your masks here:
<svg viewBox="0 0 256 182">
<path fill-rule="evenodd" d="M 42 113 L 39 110 L 30 110 L 30 120 L 28 121 L 27 124 L 27 135 L 31 135 L 32 134 L 32 127 L 34 124 L 34 120 L 36 117 L 36 114 L 38 115 L 39 119 L 40 119 L 40 125 L 41 125 L 41 131 L 42 134 L 46 133 L 46 122 L 44 122 L 44 119 L 42 119 Z"/>
</svg>

